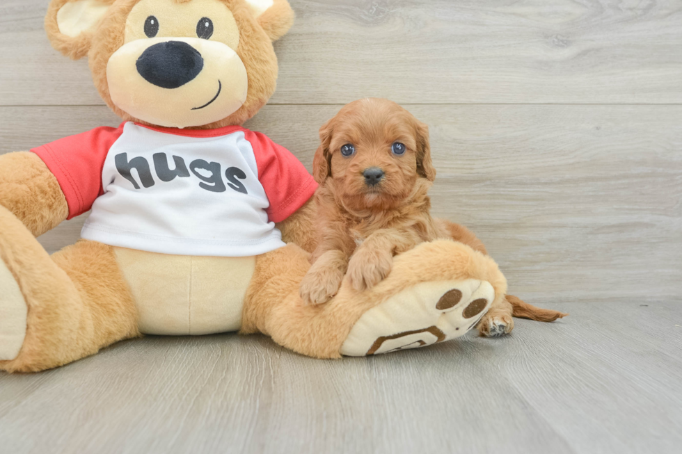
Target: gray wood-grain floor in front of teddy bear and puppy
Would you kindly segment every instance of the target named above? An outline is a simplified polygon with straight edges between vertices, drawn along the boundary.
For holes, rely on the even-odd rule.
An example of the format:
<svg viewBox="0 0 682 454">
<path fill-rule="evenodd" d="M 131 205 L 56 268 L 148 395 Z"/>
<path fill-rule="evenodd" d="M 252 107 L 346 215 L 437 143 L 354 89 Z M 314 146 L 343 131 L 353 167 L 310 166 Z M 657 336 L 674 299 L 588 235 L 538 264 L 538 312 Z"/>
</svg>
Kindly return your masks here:
<svg viewBox="0 0 682 454">
<path fill-rule="evenodd" d="M 562 303 L 420 350 L 309 359 L 264 337 L 148 337 L 0 375 L 8 453 L 677 453 L 682 305 Z"/>
</svg>

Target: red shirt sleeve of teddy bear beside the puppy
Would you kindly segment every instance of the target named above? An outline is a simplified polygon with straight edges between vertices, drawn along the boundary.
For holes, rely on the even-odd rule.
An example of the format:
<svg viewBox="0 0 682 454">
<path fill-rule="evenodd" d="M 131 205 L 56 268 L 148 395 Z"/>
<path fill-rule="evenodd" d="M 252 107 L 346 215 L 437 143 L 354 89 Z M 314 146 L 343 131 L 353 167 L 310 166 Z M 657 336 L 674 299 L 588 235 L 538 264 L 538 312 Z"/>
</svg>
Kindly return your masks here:
<svg viewBox="0 0 682 454">
<path fill-rule="evenodd" d="M 317 183 L 288 149 L 264 134 L 253 131 L 244 134 L 253 147 L 258 179 L 270 201 L 268 217 L 272 222 L 282 222 L 310 200 Z"/>
</svg>

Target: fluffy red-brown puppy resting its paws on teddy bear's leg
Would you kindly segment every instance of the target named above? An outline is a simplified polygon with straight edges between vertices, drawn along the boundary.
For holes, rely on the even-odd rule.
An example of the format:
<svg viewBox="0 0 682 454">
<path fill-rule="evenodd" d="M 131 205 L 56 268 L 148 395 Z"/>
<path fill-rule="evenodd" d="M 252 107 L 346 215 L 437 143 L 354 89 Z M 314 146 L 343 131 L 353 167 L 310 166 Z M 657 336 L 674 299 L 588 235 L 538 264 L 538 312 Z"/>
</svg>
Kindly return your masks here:
<svg viewBox="0 0 682 454">
<path fill-rule="evenodd" d="M 429 130 L 404 108 L 386 99 L 360 99 L 324 124 L 320 139 L 313 161 L 320 185 L 319 243 L 301 282 L 304 302 L 328 301 L 344 278 L 358 291 L 371 288 L 390 273 L 393 256 L 423 241 L 452 238 L 486 253 L 466 227 L 431 218 L 427 191 L 436 170 Z M 479 325 L 484 334 L 512 330 L 512 303 L 530 318 L 559 314 L 514 297 L 502 303 Z"/>
</svg>

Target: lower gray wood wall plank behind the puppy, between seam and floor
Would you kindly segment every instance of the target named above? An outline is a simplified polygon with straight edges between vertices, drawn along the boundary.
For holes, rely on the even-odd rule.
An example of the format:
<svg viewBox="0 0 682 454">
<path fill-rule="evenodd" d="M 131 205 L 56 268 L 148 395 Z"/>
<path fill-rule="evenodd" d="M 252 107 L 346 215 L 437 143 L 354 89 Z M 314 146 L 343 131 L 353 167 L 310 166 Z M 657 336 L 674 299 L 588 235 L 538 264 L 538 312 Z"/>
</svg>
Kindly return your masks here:
<svg viewBox="0 0 682 454">
<path fill-rule="evenodd" d="M 511 293 L 681 300 L 682 106 L 407 107 L 431 126 L 434 215 L 484 240 Z M 247 126 L 310 169 L 338 108 L 267 106 Z M 118 119 L 100 106 L 0 108 L 0 153 L 100 124 Z M 54 252 L 82 222 L 40 239 Z"/>
</svg>

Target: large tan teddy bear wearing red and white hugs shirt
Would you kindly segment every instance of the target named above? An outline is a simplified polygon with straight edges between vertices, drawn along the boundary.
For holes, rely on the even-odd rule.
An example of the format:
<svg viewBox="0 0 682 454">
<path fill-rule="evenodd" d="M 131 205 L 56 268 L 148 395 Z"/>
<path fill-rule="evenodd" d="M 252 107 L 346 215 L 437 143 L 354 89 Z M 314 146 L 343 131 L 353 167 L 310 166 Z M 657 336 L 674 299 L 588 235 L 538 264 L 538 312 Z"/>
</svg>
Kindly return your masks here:
<svg viewBox="0 0 682 454">
<path fill-rule="evenodd" d="M 88 57 L 122 123 L 0 156 L 0 369 L 42 371 L 143 334 L 262 333 L 316 358 L 511 330 L 507 282 L 466 245 L 422 243 L 386 279 L 303 304 L 317 184 L 241 127 L 276 87 L 286 0 L 51 0 L 55 49 Z M 35 237 L 90 211 L 53 255 Z"/>
</svg>

